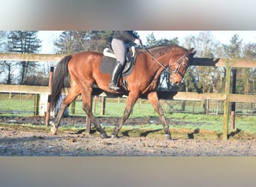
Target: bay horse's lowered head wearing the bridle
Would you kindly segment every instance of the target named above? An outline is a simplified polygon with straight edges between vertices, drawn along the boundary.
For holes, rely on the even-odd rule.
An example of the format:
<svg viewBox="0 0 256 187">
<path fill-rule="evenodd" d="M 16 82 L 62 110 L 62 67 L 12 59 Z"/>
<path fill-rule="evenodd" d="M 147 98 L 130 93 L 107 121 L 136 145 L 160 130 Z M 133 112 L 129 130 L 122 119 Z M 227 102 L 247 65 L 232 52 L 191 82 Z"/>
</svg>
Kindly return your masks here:
<svg viewBox="0 0 256 187">
<path fill-rule="evenodd" d="M 170 67 L 170 82 L 174 85 L 179 85 L 182 81 L 186 69 L 189 67 L 189 64 L 192 61 L 193 56 L 197 51 L 194 51 L 194 48 L 186 50 L 183 55 L 178 55 L 177 58 L 171 58 L 169 61 Z"/>
</svg>

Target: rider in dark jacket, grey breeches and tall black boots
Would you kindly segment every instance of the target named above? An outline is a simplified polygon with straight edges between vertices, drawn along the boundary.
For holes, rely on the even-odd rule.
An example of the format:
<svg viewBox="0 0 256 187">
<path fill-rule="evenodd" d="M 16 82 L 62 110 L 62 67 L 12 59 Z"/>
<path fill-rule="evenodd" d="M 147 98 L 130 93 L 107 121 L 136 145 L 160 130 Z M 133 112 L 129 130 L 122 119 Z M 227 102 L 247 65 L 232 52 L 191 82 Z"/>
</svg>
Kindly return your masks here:
<svg viewBox="0 0 256 187">
<path fill-rule="evenodd" d="M 112 49 L 115 53 L 117 61 L 112 71 L 112 77 L 110 79 L 108 87 L 109 90 L 120 90 L 117 82 L 126 64 L 125 55 L 127 53 L 127 43 L 129 42 L 133 42 L 137 45 L 142 45 L 141 39 L 139 39 L 135 34 L 133 34 L 133 31 L 114 31 L 114 34 L 112 36 Z"/>
</svg>

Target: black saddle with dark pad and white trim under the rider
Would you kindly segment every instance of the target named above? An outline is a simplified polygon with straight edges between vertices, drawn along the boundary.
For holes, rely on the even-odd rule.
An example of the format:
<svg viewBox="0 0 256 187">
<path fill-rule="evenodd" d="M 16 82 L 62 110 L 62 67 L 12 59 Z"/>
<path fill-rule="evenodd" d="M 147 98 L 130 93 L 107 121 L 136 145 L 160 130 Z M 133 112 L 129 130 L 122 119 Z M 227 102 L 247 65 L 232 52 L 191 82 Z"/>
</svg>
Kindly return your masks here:
<svg viewBox="0 0 256 187">
<path fill-rule="evenodd" d="M 132 73 L 134 64 L 136 61 L 136 51 L 135 46 L 131 46 L 127 50 L 126 54 L 126 65 L 122 71 L 121 76 L 129 76 Z M 100 71 L 103 73 L 112 74 L 112 70 L 115 67 L 115 54 L 112 50 L 112 46 L 109 45 L 108 48 L 103 50 L 103 59 L 100 62 Z"/>
</svg>

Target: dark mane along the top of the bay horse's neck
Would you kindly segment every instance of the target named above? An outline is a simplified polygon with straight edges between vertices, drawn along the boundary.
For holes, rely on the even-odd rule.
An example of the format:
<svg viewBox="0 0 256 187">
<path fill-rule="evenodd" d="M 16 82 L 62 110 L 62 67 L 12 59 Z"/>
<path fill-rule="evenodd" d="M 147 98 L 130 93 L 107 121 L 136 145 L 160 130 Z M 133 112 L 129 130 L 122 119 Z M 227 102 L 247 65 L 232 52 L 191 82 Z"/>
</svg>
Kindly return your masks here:
<svg viewBox="0 0 256 187">
<path fill-rule="evenodd" d="M 147 50 L 154 55 L 155 58 L 159 57 L 160 55 L 163 55 L 167 52 L 170 52 L 173 49 L 182 49 L 184 50 L 185 48 L 178 46 L 177 44 L 172 44 L 172 45 L 161 45 L 161 46 L 151 46 L 147 48 Z M 186 50 L 186 49 L 185 49 Z M 144 53 L 144 49 L 138 49 L 138 53 Z"/>
</svg>

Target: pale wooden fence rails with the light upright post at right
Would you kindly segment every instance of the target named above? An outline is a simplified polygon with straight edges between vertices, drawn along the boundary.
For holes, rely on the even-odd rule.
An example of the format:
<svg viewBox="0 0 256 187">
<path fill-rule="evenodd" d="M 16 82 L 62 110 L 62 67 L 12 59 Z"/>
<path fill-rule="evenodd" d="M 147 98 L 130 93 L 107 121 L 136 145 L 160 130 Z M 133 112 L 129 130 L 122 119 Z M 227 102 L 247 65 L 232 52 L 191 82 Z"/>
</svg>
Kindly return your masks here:
<svg viewBox="0 0 256 187">
<path fill-rule="evenodd" d="M 0 53 L 1 61 L 41 61 L 58 62 L 67 54 L 9 54 Z M 256 61 L 248 59 L 230 58 L 194 58 L 192 66 L 226 67 L 225 92 L 224 93 L 191 93 L 177 92 L 168 99 L 180 100 L 223 100 L 224 101 L 224 120 L 223 120 L 223 139 L 228 138 L 228 118 L 230 102 L 256 102 L 256 95 L 243 95 L 231 93 L 231 67 L 255 68 Z M 50 87 L 25 86 L 25 85 L 0 85 L 0 92 L 4 93 L 45 93 L 50 94 Z M 160 94 L 161 95 L 161 94 Z M 160 96 L 161 98 L 161 96 Z"/>
</svg>

